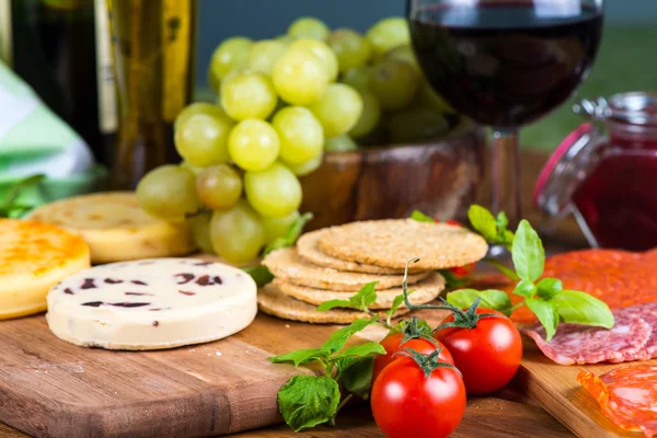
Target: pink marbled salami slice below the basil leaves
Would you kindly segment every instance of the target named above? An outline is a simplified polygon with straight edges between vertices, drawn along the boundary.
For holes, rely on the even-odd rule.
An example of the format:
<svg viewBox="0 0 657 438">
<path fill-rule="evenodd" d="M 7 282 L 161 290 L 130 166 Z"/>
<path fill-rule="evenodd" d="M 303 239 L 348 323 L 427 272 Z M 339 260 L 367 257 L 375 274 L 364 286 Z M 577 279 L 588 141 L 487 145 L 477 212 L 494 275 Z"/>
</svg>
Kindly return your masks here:
<svg viewBox="0 0 657 438">
<path fill-rule="evenodd" d="M 624 362 L 637 360 L 653 332 L 641 316 L 625 312 L 614 314 L 613 328 L 578 324 L 560 324 L 556 334 L 545 342 L 542 326 L 523 330 L 545 356 L 561 365 Z"/>
</svg>

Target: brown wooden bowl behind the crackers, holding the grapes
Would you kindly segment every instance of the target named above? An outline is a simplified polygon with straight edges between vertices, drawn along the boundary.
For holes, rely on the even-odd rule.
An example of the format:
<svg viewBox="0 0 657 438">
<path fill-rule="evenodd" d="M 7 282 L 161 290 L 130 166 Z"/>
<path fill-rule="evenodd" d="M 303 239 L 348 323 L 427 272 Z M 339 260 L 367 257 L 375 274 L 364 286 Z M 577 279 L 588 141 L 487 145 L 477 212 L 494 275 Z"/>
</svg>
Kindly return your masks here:
<svg viewBox="0 0 657 438">
<path fill-rule="evenodd" d="M 462 125 L 438 141 L 328 152 L 301 177 L 301 211 L 314 214 L 313 230 L 415 209 L 462 219 L 483 176 L 484 148 L 484 129 Z"/>
</svg>

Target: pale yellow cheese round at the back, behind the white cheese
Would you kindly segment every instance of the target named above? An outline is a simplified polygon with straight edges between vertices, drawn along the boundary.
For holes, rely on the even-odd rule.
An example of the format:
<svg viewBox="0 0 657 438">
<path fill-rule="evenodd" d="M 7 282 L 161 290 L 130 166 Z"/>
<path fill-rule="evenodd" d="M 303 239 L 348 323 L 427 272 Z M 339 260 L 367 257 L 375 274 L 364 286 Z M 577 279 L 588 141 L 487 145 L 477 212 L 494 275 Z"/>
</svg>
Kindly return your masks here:
<svg viewBox="0 0 657 438">
<path fill-rule="evenodd" d="M 185 255 L 195 250 L 188 223 L 168 223 L 149 216 L 131 192 L 57 200 L 36 208 L 30 219 L 80 234 L 94 264 Z"/>
</svg>

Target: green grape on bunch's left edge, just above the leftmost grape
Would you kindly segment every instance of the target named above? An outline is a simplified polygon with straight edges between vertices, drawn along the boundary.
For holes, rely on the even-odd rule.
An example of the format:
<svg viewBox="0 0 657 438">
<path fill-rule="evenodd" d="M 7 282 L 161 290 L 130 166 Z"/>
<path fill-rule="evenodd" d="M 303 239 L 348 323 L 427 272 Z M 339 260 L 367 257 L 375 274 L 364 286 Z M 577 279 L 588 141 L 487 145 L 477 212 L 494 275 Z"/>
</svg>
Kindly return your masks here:
<svg viewBox="0 0 657 438">
<path fill-rule="evenodd" d="M 232 126 L 228 117 L 191 114 L 175 129 L 175 149 L 183 160 L 198 168 L 226 163 L 230 160 L 227 140 Z"/>
</svg>

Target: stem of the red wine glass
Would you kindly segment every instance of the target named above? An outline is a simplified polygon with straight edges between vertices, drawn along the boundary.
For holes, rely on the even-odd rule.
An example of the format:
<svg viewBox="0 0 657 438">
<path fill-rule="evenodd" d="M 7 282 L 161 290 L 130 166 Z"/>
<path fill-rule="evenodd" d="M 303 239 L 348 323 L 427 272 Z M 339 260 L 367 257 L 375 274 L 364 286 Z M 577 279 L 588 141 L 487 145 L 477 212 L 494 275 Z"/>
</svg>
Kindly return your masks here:
<svg viewBox="0 0 657 438">
<path fill-rule="evenodd" d="M 509 227 L 515 228 L 522 218 L 518 130 L 495 129 L 491 147 L 491 207 L 494 214 L 505 211 Z"/>
</svg>

